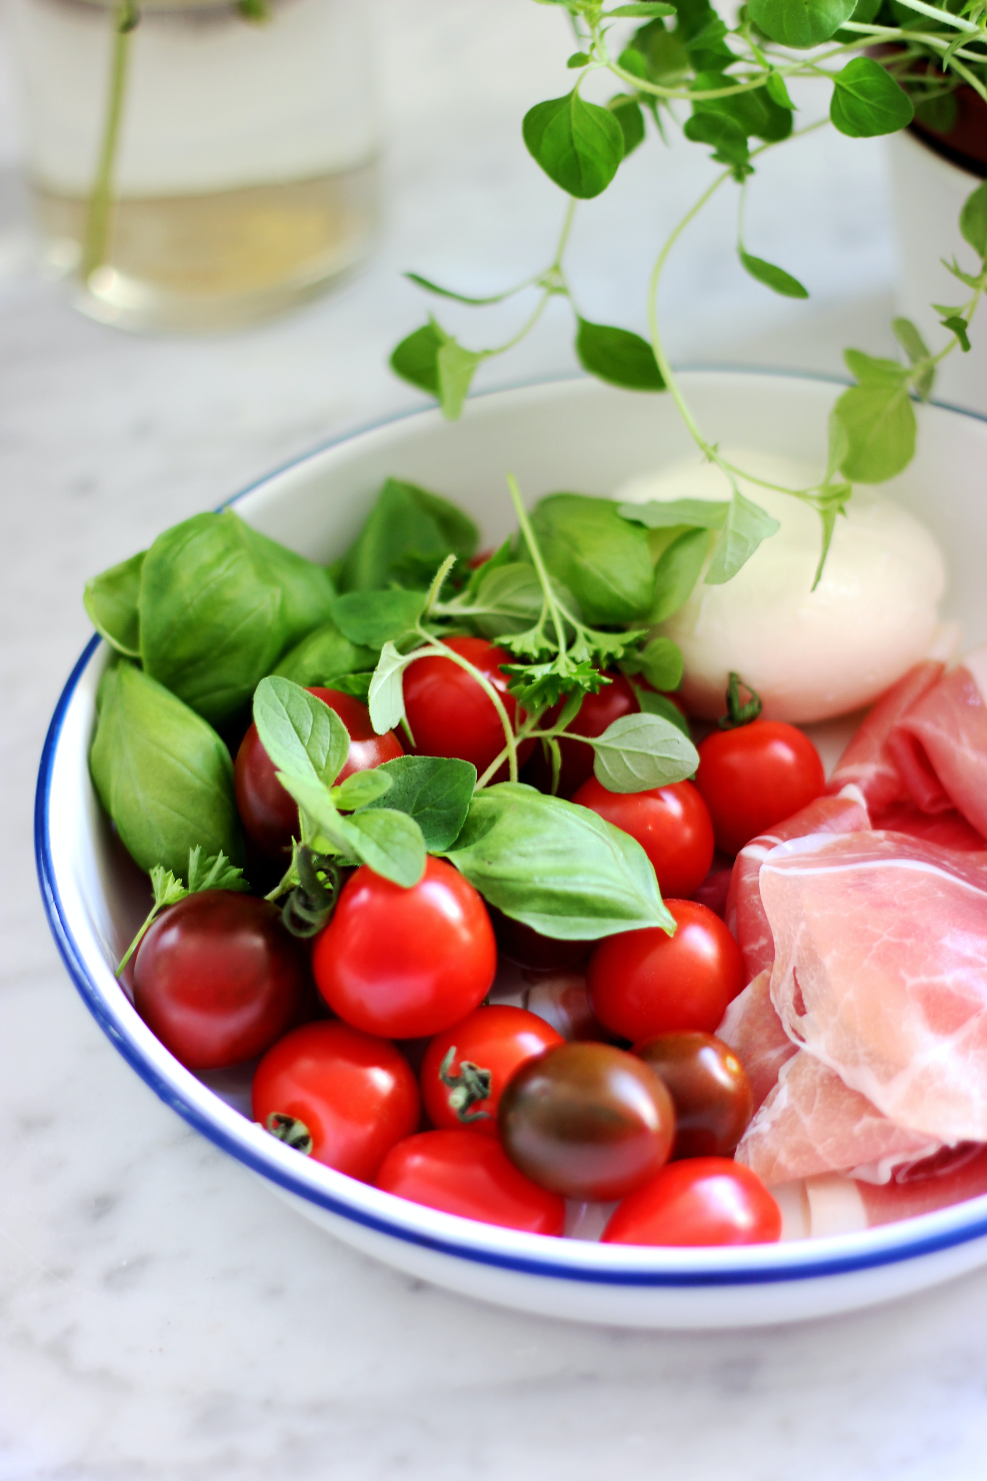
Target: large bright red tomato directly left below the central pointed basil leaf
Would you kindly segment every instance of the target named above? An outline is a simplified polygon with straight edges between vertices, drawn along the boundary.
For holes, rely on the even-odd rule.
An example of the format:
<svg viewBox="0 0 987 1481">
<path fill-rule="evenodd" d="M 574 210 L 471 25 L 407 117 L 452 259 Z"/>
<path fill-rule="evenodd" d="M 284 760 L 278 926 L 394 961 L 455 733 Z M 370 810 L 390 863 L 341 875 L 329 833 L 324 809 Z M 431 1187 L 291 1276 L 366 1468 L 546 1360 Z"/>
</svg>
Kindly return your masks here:
<svg viewBox="0 0 987 1481">
<path fill-rule="evenodd" d="M 496 970 L 487 906 L 435 857 L 410 890 L 367 865 L 357 869 L 312 952 L 333 1013 L 386 1038 L 420 1038 L 457 1023 L 482 1003 Z"/>
</svg>

